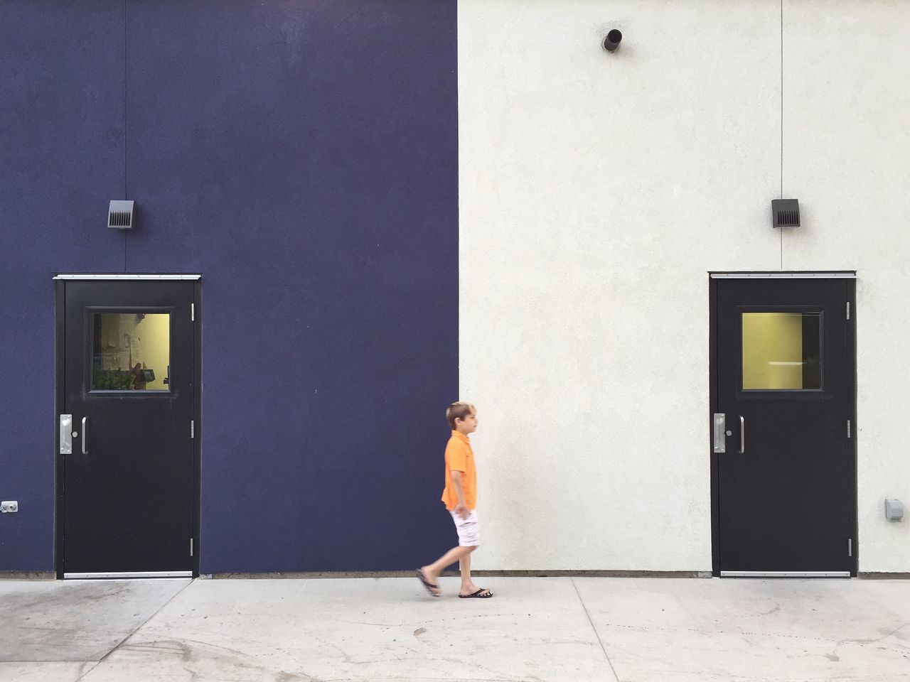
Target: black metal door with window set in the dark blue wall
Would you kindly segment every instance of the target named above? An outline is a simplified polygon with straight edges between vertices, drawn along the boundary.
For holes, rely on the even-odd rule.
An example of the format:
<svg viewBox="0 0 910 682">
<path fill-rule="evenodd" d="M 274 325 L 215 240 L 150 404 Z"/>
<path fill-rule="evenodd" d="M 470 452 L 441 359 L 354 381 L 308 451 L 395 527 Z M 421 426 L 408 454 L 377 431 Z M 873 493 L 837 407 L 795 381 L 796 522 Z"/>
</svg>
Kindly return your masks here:
<svg viewBox="0 0 910 682">
<path fill-rule="evenodd" d="M 196 283 L 62 286 L 58 575 L 191 575 Z"/>
</svg>

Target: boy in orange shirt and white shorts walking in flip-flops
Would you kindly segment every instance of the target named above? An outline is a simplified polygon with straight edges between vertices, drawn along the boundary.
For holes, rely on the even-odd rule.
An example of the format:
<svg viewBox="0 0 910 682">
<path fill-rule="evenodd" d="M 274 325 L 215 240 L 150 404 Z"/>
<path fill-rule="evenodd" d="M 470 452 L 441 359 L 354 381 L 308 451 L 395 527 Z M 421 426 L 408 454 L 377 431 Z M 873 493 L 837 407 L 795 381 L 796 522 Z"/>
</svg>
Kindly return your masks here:
<svg viewBox="0 0 910 682">
<path fill-rule="evenodd" d="M 418 568 L 417 577 L 433 597 L 440 597 L 442 591 L 437 584 L 440 573 L 458 561 L 461 569 L 458 596 L 462 599 L 486 599 L 493 593 L 486 587 L 477 587 L 470 579 L 470 555 L 480 545 L 476 509 L 477 471 L 468 438 L 477 429 L 477 410 L 470 403 L 452 403 L 446 410 L 446 419 L 452 435 L 446 446 L 446 487 L 442 491 L 442 501 L 455 522 L 459 546 L 452 547 L 429 566 Z"/>
</svg>

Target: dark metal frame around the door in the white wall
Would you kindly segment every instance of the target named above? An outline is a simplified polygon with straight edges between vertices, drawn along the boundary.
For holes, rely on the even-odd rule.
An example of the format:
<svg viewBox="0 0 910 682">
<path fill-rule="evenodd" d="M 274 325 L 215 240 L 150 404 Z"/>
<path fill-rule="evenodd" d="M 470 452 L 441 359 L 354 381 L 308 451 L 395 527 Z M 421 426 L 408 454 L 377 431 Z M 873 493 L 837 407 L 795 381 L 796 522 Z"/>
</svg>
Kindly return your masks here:
<svg viewBox="0 0 910 682">
<path fill-rule="evenodd" d="M 708 432 L 708 452 L 711 455 L 711 572 L 713 577 L 721 576 L 721 536 L 720 536 L 720 480 L 718 477 L 718 467 L 720 456 L 714 452 L 713 448 L 713 414 L 720 412 L 718 409 L 718 386 L 717 386 L 717 366 L 719 339 L 717 329 L 717 287 L 718 281 L 722 279 L 848 279 L 853 280 L 854 286 L 849 287 L 848 301 L 850 304 L 850 321 L 853 323 L 847 336 L 847 348 L 850 356 L 853 358 L 853 390 L 851 400 L 853 401 L 850 410 L 852 419 L 852 434 L 850 438 L 850 458 L 853 471 L 851 481 L 851 496 L 848 501 L 850 505 L 850 527 L 853 532 L 853 556 L 850 566 L 850 576 L 856 577 L 859 566 L 859 527 L 857 518 L 858 502 L 858 461 L 857 445 L 859 439 L 859 429 L 856 426 L 856 271 L 855 270 L 833 270 L 833 271 L 777 271 L 777 272 L 709 272 L 708 273 L 708 296 L 709 296 L 709 378 L 710 378 L 710 404 L 707 417 Z"/>
</svg>

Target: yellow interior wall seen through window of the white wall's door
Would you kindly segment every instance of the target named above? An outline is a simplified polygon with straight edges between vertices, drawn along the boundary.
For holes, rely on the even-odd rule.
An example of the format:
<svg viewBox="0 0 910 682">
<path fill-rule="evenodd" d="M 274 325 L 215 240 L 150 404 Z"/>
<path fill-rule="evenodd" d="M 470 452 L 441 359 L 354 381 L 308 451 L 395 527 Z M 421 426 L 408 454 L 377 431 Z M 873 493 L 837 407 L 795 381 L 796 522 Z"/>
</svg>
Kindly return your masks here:
<svg viewBox="0 0 910 682">
<path fill-rule="evenodd" d="M 743 389 L 802 389 L 802 363 L 802 315 L 743 313 Z"/>
</svg>

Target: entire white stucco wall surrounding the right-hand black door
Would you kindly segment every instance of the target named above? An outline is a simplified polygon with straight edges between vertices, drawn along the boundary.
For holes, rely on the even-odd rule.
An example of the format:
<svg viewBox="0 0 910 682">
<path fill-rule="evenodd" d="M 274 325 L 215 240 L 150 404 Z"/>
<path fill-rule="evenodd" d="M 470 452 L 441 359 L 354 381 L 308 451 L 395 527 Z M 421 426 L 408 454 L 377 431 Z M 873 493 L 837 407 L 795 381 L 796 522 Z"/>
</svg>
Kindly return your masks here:
<svg viewBox="0 0 910 682">
<path fill-rule="evenodd" d="M 859 270 L 860 570 L 910 570 L 908 29 L 785 2 L 782 95 L 779 0 L 460 0 L 475 567 L 710 570 L 707 273 L 785 267 Z"/>
</svg>

